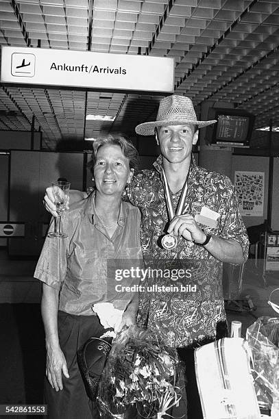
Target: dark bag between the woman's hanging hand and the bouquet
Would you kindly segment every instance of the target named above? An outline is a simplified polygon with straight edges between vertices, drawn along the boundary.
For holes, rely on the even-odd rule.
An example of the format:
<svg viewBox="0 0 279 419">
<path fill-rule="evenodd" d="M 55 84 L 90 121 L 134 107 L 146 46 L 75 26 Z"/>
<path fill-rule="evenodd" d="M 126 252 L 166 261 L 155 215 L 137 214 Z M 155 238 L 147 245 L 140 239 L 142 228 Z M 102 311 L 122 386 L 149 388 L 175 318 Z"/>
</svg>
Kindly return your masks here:
<svg viewBox="0 0 279 419">
<path fill-rule="evenodd" d="M 110 353 L 111 341 L 112 338 L 89 338 L 77 351 L 77 363 L 84 379 L 86 392 L 93 401 L 97 398 L 101 372 Z"/>
</svg>

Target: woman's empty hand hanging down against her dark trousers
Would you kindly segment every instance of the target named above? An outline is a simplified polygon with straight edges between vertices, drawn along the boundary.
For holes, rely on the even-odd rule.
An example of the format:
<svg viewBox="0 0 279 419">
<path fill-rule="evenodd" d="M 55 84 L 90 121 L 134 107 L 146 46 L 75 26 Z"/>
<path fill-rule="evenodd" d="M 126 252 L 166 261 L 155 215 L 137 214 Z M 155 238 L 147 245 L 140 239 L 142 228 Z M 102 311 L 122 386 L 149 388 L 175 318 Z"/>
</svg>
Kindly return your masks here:
<svg viewBox="0 0 279 419">
<path fill-rule="evenodd" d="M 62 353 L 60 346 L 56 346 L 55 348 L 49 346 L 47 348 L 47 364 L 45 373 L 51 387 L 55 388 L 57 392 L 59 390 L 63 390 L 62 372 L 64 377 L 70 377 L 64 353 Z"/>
</svg>

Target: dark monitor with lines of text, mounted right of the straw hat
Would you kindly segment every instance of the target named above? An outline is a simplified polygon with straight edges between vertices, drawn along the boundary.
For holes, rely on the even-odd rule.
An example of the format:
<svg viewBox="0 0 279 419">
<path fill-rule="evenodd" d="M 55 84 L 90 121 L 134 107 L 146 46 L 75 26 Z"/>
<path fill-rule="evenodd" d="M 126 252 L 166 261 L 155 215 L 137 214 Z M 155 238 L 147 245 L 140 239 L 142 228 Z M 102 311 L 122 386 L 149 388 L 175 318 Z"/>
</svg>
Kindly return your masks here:
<svg viewBox="0 0 279 419">
<path fill-rule="evenodd" d="M 223 142 L 243 143 L 246 141 L 249 128 L 248 116 L 219 115 L 216 140 Z"/>
</svg>

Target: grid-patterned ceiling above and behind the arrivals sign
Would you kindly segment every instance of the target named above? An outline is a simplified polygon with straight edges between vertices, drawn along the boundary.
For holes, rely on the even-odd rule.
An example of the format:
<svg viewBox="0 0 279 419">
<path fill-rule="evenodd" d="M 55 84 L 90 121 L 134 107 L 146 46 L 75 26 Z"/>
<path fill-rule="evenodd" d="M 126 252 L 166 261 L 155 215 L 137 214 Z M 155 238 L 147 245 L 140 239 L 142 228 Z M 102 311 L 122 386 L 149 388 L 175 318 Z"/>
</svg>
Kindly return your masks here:
<svg viewBox="0 0 279 419">
<path fill-rule="evenodd" d="M 228 103 L 279 126 L 278 0 L 1 0 L 0 45 L 175 59 L 175 92 Z M 43 132 L 43 147 L 134 135 L 160 96 L 1 86 L 0 129 Z M 86 114 L 113 121 L 86 120 Z M 1 148 L 1 144 L 0 144 Z"/>
</svg>

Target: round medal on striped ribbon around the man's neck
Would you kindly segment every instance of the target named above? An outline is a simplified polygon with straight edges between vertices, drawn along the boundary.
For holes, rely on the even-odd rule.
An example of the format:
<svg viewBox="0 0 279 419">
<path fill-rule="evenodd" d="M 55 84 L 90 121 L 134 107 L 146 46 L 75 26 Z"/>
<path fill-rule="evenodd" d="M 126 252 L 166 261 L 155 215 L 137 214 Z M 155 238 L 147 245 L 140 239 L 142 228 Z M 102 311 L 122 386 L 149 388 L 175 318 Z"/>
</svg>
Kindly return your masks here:
<svg viewBox="0 0 279 419">
<path fill-rule="evenodd" d="M 184 202 L 185 202 L 185 197 L 186 197 L 186 192 L 187 192 L 187 188 L 188 188 L 188 175 L 186 177 L 186 181 L 185 181 L 184 186 L 182 188 L 180 199 L 178 201 L 178 208 L 176 210 L 176 214 L 175 214 L 174 209 L 173 209 L 173 201 L 171 199 L 171 190 L 169 188 L 169 184 L 167 183 L 167 177 L 166 177 L 164 168 L 162 168 L 162 184 L 164 186 L 165 200 L 166 200 L 166 204 L 167 204 L 167 211 L 168 211 L 168 214 L 169 214 L 169 220 L 172 220 L 175 215 L 178 216 L 178 215 L 182 214 L 182 210 L 183 210 L 183 206 L 184 206 Z M 175 249 L 175 247 L 178 244 L 178 238 L 173 236 L 173 234 L 171 234 L 171 233 L 166 234 L 165 236 L 162 236 L 161 244 L 162 244 L 162 247 L 164 249 L 167 249 L 167 250 Z"/>
</svg>

